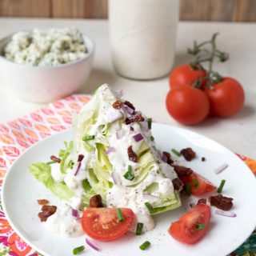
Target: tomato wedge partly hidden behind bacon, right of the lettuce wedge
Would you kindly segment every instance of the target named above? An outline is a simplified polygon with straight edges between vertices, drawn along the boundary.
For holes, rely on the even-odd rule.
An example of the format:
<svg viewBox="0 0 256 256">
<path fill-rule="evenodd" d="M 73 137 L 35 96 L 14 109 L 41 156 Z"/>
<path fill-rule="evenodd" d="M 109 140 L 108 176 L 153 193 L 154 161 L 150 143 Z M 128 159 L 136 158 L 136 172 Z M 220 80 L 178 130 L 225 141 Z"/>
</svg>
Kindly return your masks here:
<svg viewBox="0 0 256 256">
<path fill-rule="evenodd" d="M 193 172 L 189 177 L 181 177 L 182 182 L 190 183 L 191 194 L 202 195 L 216 190 L 216 186 L 203 178 L 201 175 Z"/>
</svg>

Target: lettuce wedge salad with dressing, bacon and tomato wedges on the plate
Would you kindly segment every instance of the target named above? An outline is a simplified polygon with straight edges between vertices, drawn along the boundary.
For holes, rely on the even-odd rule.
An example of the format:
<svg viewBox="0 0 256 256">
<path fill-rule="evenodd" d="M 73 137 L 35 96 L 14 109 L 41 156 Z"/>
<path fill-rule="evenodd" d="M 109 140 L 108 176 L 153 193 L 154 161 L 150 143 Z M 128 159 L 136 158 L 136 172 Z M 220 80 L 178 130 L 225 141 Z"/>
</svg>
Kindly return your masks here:
<svg viewBox="0 0 256 256">
<path fill-rule="evenodd" d="M 100 86 L 74 118 L 73 141 L 64 142 L 65 148 L 50 162 L 29 166 L 30 173 L 62 202 L 50 206 L 48 200 L 38 200 L 42 205 L 38 217 L 46 229 L 66 237 L 86 233 L 110 241 L 129 230 L 135 234 L 153 230 L 152 216 L 181 206 L 181 192 L 196 196 L 216 192 L 212 183 L 157 149 L 151 126 L 152 119 L 122 99 L 120 91 Z M 186 161 L 196 157 L 191 148 L 172 152 Z M 230 210 L 232 200 L 218 194 L 210 203 Z M 195 243 L 209 225 L 210 206 L 202 198 L 172 223 L 169 233 L 179 242 Z M 148 241 L 141 249 L 147 246 Z"/>
</svg>

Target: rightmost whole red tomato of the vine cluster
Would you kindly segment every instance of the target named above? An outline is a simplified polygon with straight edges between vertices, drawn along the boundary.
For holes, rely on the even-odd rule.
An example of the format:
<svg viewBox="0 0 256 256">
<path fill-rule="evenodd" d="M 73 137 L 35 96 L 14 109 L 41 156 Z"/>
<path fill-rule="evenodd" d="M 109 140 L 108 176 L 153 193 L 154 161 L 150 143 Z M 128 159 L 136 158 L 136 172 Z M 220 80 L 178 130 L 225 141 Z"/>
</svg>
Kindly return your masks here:
<svg viewBox="0 0 256 256">
<path fill-rule="evenodd" d="M 245 102 L 245 93 L 241 84 L 233 78 L 223 78 L 213 89 L 206 88 L 210 102 L 210 114 L 226 118 L 238 113 Z"/>
</svg>

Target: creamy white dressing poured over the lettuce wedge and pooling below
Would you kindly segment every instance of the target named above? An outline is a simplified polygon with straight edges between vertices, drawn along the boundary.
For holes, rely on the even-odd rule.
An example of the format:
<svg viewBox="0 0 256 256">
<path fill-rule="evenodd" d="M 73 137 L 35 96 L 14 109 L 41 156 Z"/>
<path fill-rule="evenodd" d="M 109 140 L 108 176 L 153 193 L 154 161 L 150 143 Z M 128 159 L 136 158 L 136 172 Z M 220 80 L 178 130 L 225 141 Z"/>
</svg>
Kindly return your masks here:
<svg viewBox="0 0 256 256">
<path fill-rule="evenodd" d="M 88 169 L 94 164 L 97 158 L 97 150 L 94 149 L 95 142 L 102 142 L 103 135 L 99 130 L 99 126 L 108 126 L 111 120 L 114 120 L 120 112 L 123 117 L 129 117 L 125 110 L 115 110 L 113 103 L 117 100 L 117 96 L 111 92 L 107 85 L 103 85 L 98 89 L 97 94 L 91 101 L 81 110 L 78 114 L 78 122 L 74 126 L 74 154 L 70 155 L 70 158 L 76 159 L 73 169 L 68 169 L 66 174 L 61 174 L 59 171 L 59 164 L 52 165 L 52 175 L 56 181 L 66 182 L 66 186 L 70 188 L 75 194 L 73 198 L 67 202 L 73 209 L 79 210 L 82 206 L 82 196 L 85 193 L 82 181 L 88 178 L 90 182 L 90 176 L 88 175 Z M 94 111 L 98 111 L 96 122 L 90 125 L 89 134 L 82 134 L 81 130 L 86 129 L 84 123 L 86 120 L 90 120 L 94 115 Z M 133 127 L 133 130 L 130 127 Z M 87 127 L 88 128 L 88 127 Z M 117 138 L 117 130 L 122 130 L 122 138 Z M 80 131 L 80 132 L 78 132 Z M 143 139 L 140 142 L 134 140 L 134 135 L 142 134 Z M 88 144 L 93 146 L 93 150 L 90 152 L 85 150 L 85 142 L 82 140 L 83 136 L 94 135 L 95 138 L 89 141 Z M 110 130 L 107 133 L 106 142 L 109 143 L 109 147 L 113 147 L 114 151 L 110 152 L 107 156 L 113 170 L 108 170 L 110 173 L 116 172 L 118 174 L 118 184 L 114 184 L 114 180 L 109 173 L 102 174 L 102 177 L 113 183 L 113 187 L 106 191 L 106 206 L 109 207 L 127 207 L 134 211 L 136 215 L 136 221 L 131 230 L 134 230 L 137 222 L 144 224 L 143 230 L 148 231 L 154 228 L 154 220 L 150 216 L 149 210 L 145 206 L 145 202 L 150 202 L 154 206 L 155 202 L 160 200 L 158 197 L 167 196 L 174 193 L 174 187 L 172 180 L 177 178 L 177 174 L 174 172 L 173 167 L 162 161 L 161 154 L 155 147 L 154 141 L 151 141 L 151 132 L 148 129 L 147 120 L 145 122 L 132 122 L 130 125 L 126 125 L 124 122 L 111 122 Z M 137 154 L 138 150 L 142 146 L 142 143 L 146 142 L 146 145 L 150 149 L 150 153 L 154 158 L 154 164 L 150 166 L 150 171 L 146 173 L 144 180 L 136 184 L 134 180 L 130 181 L 124 178 L 124 174 L 128 170 L 128 166 L 132 167 L 132 172 L 136 177 L 136 170 L 140 167 L 139 162 L 131 162 L 127 149 L 132 146 L 132 149 Z M 81 162 L 80 170 L 77 175 L 74 175 L 78 166 L 78 154 L 83 154 L 84 158 Z M 158 183 L 158 190 L 155 190 L 151 197 L 147 195 L 146 188 L 152 183 Z M 93 186 L 93 184 L 91 184 Z M 96 191 L 97 192 L 97 191 Z M 59 218 L 62 216 L 62 218 Z M 72 216 L 71 216 L 72 217 Z M 69 210 L 58 210 L 56 214 L 52 215 L 47 220 L 47 226 L 55 233 L 65 234 L 73 236 L 73 234 L 79 234 L 74 229 L 74 219 L 70 217 Z M 63 221 L 62 221 L 63 219 Z M 65 228 L 66 226 L 66 228 Z M 63 230 L 68 230 L 64 232 Z M 72 233 L 71 231 L 74 230 Z M 79 231 L 79 230 L 78 230 Z"/>
</svg>

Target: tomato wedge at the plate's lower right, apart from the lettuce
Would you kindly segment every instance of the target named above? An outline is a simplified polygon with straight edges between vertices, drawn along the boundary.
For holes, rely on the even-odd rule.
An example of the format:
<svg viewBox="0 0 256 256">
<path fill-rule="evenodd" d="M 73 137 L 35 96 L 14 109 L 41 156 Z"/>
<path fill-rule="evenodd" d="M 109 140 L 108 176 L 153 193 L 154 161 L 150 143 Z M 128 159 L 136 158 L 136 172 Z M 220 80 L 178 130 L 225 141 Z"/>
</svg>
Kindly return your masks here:
<svg viewBox="0 0 256 256">
<path fill-rule="evenodd" d="M 203 224 L 204 229 L 196 229 L 197 224 Z M 179 242 L 194 244 L 201 240 L 210 226 L 210 206 L 200 204 L 194 206 L 170 225 L 169 234 Z"/>
</svg>

